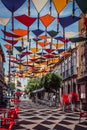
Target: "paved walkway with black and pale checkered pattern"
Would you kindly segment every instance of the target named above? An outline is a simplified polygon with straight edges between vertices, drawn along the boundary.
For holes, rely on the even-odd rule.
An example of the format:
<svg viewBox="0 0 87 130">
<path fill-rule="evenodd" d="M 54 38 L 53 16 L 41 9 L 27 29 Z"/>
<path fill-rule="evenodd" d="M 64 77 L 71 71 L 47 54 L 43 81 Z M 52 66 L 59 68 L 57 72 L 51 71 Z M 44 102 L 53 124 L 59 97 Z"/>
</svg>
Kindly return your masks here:
<svg viewBox="0 0 87 130">
<path fill-rule="evenodd" d="M 14 130 L 87 130 L 87 120 L 81 119 L 79 123 L 79 112 L 63 112 L 22 100 Z"/>
</svg>

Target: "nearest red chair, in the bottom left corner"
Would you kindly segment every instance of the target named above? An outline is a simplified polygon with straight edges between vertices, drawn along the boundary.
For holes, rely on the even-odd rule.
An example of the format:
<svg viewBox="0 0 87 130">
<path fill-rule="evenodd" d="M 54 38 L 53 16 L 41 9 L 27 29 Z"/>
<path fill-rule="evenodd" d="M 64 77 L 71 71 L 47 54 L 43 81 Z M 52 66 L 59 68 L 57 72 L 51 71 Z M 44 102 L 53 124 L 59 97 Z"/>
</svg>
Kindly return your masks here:
<svg viewBox="0 0 87 130">
<path fill-rule="evenodd" d="M 3 118 L 2 119 L 2 128 L 0 130 L 12 130 L 13 126 L 15 125 L 15 122 L 11 118 Z M 3 128 L 3 127 L 8 127 L 8 128 Z"/>
</svg>

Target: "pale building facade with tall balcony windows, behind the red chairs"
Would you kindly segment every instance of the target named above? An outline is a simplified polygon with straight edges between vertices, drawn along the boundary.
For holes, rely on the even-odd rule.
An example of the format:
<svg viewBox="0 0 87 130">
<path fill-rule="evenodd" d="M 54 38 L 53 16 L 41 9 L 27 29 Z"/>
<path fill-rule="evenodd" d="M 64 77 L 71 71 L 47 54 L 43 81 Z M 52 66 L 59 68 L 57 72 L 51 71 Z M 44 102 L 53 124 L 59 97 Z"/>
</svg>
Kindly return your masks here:
<svg viewBox="0 0 87 130">
<path fill-rule="evenodd" d="M 69 54 L 60 58 L 59 62 L 53 67 L 53 72 L 58 72 L 62 78 L 61 94 L 78 92 L 77 89 L 77 60 L 78 60 L 78 47 L 70 48 Z M 60 96 L 61 96 L 60 94 Z"/>
</svg>

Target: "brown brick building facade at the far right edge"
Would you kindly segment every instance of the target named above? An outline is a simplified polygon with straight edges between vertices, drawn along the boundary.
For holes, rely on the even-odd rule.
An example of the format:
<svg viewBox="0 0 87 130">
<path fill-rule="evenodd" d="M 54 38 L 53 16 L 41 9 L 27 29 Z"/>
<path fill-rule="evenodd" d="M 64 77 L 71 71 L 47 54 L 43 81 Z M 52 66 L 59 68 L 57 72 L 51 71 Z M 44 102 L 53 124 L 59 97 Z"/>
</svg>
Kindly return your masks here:
<svg viewBox="0 0 87 130">
<path fill-rule="evenodd" d="M 87 38 L 86 15 L 81 15 L 82 19 L 79 21 L 78 28 L 80 37 Z M 77 85 L 82 101 L 83 108 L 87 110 L 87 40 L 79 43 L 79 68 Z"/>
</svg>

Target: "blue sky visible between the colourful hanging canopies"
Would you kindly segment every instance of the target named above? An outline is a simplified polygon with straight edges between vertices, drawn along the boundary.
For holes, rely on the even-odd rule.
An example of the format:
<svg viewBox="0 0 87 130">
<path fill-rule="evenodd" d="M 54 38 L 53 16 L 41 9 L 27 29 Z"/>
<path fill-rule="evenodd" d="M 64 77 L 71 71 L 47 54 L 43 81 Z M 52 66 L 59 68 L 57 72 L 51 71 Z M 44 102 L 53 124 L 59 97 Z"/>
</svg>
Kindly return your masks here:
<svg viewBox="0 0 87 130">
<path fill-rule="evenodd" d="M 38 1 L 38 0 L 37 0 Z M 48 0 L 49 1 L 49 0 Z M 14 15 L 15 16 L 18 16 L 18 15 L 22 15 L 22 14 L 28 14 L 28 4 L 27 4 L 28 0 L 26 0 L 26 2 L 17 10 L 15 11 Z M 75 15 L 76 16 L 79 16 L 81 11 L 80 9 L 78 8 L 78 6 L 76 5 L 76 8 L 77 10 L 75 11 Z M 30 5 L 30 12 L 31 12 L 31 16 L 32 17 L 37 17 L 37 11 L 33 5 L 33 3 L 31 2 L 31 5 Z M 43 8 L 43 10 L 40 12 L 40 16 L 43 16 L 45 14 L 49 13 L 49 2 L 46 4 L 46 6 Z M 69 16 L 72 14 L 72 2 L 70 2 L 64 9 L 63 11 L 60 13 L 60 17 L 66 17 L 66 16 Z M 52 16 L 57 16 L 57 13 L 56 13 L 56 10 L 55 10 L 55 7 L 54 5 L 52 5 Z M 0 0 L 0 17 L 2 18 L 11 18 L 11 12 L 2 4 L 1 0 Z M 7 31 L 11 31 L 11 27 L 12 27 L 12 24 L 11 24 L 11 20 L 10 22 L 8 23 L 7 25 Z M 3 50 L 4 50 L 4 53 L 5 53 L 5 56 L 7 56 L 7 53 L 6 53 L 6 48 L 4 47 L 4 44 L 6 44 L 5 41 L 2 40 L 2 38 L 4 37 L 1 29 L 3 29 L 4 27 L 2 25 L 0 25 L 0 43 L 3 47 Z M 20 22 L 18 22 L 17 20 L 14 20 L 14 28 L 17 29 L 17 28 L 23 28 L 23 29 L 27 29 L 26 26 L 24 26 L 23 24 L 21 24 Z M 43 24 L 40 22 L 40 28 L 43 28 L 45 29 L 45 27 L 43 26 Z M 37 22 L 35 22 L 33 24 L 33 26 L 30 27 L 30 30 L 33 30 L 33 29 L 37 29 Z M 55 29 L 55 22 L 53 22 L 49 27 L 48 27 L 48 30 L 50 29 Z M 75 31 L 75 32 L 78 32 L 78 23 L 74 23 L 73 25 L 70 25 L 69 27 L 66 28 L 66 31 Z M 62 32 L 62 27 L 60 26 L 60 32 Z M 33 35 L 34 34 L 31 32 L 30 35 Z M 19 43 L 20 44 L 20 43 Z M 32 44 L 32 46 L 34 46 L 34 44 Z M 7 74 L 8 73 L 8 59 L 6 58 L 6 62 L 4 64 L 4 67 L 5 67 L 5 73 Z M 27 79 L 20 79 L 20 81 L 26 85 L 27 83 Z"/>
</svg>

